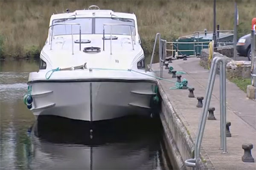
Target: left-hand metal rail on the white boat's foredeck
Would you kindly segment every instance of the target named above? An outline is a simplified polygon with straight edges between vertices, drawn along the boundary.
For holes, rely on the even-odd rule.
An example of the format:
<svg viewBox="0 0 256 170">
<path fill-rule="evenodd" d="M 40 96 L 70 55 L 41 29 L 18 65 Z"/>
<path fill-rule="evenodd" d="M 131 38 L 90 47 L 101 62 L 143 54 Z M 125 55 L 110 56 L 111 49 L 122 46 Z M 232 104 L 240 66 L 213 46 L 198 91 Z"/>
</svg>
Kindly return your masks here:
<svg viewBox="0 0 256 170">
<path fill-rule="evenodd" d="M 71 25 L 71 37 L 72 37 L 72 55 L 74 54 L 74 38 L 73 38 L 73 26 L 79 26 L 79 50 L 81 51 L 81 25 L 79 23 L 58 23 L 58 24 L 53 24 L 49 26 L 49 45 L 50 50 L 52 50 L 52 38 L 54 37 L 54 26 L 59 26 L 59 25 Z M 52 29 L 50 29 L 52 28 Z"/>
</svg>

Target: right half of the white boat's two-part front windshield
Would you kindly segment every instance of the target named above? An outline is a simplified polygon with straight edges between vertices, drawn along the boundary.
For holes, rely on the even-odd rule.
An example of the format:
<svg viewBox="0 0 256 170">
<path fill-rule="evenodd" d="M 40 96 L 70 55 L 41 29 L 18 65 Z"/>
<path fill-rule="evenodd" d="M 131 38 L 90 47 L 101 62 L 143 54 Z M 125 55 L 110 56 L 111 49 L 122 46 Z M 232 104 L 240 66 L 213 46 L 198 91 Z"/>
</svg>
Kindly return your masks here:
<svg viewBox="0 0 256 170">
<path fill-rule="evenodd" d="M 131 26 L 135 35 L 134 20 L 127 18 L 95 18 L 95 34 L 103 34 L 103 24 L 124 24 Z M 131 35 L 129 26 L 112 26 L 112 34 Z M 105 34 L 110 34 L 111 26 L 105 26 Z"/>
</svg>

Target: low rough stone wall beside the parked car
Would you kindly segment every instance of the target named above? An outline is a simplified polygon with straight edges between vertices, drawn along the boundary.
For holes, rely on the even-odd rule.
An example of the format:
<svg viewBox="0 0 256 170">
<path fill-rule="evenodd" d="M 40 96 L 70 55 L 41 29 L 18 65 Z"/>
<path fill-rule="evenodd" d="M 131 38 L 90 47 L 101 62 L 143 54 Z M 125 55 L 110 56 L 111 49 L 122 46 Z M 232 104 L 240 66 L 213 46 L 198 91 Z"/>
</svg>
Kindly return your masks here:
<svg viewBox="0 0 256 170">
<path fill-rule="evenodd" d="M 225 55 L 222 55 L 218 52 L 214 52 L 213 57 L 225 57 L 227 60 L 227 78 L 232 77 L 243 77 L 243 78 L 250 78 L 250 68 L 251 62 L 250 61 L 235 61 Z M 201 60 L 200 65 L 203 66 L 205 69 L 208 69 L 208 57 L 209 57 L 209 50 L 203 49 L 201 51 Z"/>
</svg>

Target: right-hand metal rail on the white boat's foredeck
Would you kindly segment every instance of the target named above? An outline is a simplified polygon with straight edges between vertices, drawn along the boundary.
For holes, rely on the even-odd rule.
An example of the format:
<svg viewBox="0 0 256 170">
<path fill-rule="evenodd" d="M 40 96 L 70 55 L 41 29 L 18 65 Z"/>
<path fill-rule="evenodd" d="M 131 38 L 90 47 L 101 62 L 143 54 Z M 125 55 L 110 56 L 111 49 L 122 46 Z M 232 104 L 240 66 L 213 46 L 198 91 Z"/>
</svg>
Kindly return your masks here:
<svg viewBox="0 0 256 170">
<path fill-rule="evenodd" d="M 110 54 L 112 55 L 112 27 L 113 26 L 128 26 L 130 27 L 130 34 L 131 34 L 131 45 L 132 49 L 134 50 L 134 44 L 136 44 L 136 36 L 134 35 L 135 26 L 131 26 L 128 24 L 103 24 L 103 51 L 105 51 L 105 26 L 110 26 Z M 132 31 L 131 28 L 134 28 Z"/>
</svg>

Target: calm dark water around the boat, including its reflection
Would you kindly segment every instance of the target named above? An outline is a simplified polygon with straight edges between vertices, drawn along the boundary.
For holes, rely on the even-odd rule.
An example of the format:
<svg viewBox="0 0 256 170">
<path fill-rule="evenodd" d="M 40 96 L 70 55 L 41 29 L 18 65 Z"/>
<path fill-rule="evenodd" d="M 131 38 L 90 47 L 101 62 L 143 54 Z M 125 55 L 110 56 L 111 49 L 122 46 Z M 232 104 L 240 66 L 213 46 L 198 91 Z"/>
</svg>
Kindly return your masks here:
<svg viewBox="0 0 256 170">
<path fill-rule="evenodd" d="M 1 169 L 172 169 L 158 119 L 88 125 L 53 116 L 35 120 L 23 104 L 36 61 L 0 63 Z"/>
</svg>

